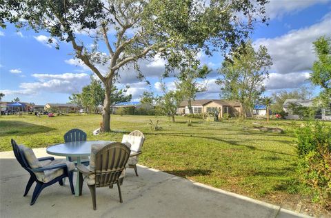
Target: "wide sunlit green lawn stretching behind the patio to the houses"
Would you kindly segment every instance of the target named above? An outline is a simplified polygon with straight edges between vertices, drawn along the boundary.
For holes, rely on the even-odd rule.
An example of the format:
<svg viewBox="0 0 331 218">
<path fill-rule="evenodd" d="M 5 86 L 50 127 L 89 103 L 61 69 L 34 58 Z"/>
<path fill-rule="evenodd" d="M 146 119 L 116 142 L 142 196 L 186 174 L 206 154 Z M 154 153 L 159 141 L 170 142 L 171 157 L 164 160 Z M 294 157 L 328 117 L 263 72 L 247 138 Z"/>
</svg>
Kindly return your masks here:
<svg viewBox="0 0 331 218">
<path fill-rule="evenodd" d="M 150 130 L 149 119 L 159 119 L 162 130 Z M 176 119 L 177 123 L 171 123 L 167 117 L 115 115 L 114 132 L 93 136 L 101 115 L 1 116 L 0 150 L 11 150 L 11 138 L 31 148 L 44 148 L 62 142 L 71 128 L 87 132 L 88 140 L 113 141 L 137 129 L 146 135 L 140 164 L 275 204 L 301 197 L 294 148 L 294 128 L 301 122 L 281 120 L 267 125 L 265 121 L 192 119 L 193 126 L 187 126 L 188 118 Z M 252 122 L 285 132 L 259 132 L 252 129 Z"/>
</svg>

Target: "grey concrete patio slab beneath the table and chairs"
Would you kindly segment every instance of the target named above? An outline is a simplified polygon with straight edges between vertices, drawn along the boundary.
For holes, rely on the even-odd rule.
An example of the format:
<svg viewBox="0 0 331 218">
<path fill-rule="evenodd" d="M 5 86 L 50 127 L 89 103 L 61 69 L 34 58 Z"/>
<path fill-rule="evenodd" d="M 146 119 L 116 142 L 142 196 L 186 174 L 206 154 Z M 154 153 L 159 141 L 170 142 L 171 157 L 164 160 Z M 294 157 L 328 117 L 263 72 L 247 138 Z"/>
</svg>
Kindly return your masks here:
<svg viewBox="0 0 331 218">
<path fill-rule="evenodd" d="M 44 148 L 34 149 L 37 157 L 50 156 Z M 92 209 L 90 190 L 70 194 L 65 186 L 54 184 L 44 189 L 34 206 L 29 194 L 23 197 L 28 172 L 12 152 L 0 152 L 0 217 L 306 217 L 279 206 L 243 197 L 218 188 L 192 182 L 159 170 L 139 166 L 139 177 L 127 170 L 121 186 L 97 188 L 97 210 Z"/>
</svg>

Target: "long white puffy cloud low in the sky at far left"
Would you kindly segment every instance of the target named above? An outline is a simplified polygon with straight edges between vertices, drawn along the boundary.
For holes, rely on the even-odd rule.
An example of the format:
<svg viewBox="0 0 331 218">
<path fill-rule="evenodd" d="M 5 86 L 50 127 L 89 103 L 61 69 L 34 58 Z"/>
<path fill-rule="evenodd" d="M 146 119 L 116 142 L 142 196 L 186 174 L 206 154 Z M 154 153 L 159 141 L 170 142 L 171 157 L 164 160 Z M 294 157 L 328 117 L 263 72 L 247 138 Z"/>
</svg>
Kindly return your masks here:
<svg viewBox="0 0 331 218">
<path fill-rule="evenodd" d="M 86 73 L 33 74 L 32 77 L 37 81 L 21 83 L 20 90 L 1 90 L 1 92 L 4 92 L 5 95 L 32 95 L 43 92 L 72 94 L 81 92 L 81 88 L 90 83 L 90 77 Z"/>
</svg>

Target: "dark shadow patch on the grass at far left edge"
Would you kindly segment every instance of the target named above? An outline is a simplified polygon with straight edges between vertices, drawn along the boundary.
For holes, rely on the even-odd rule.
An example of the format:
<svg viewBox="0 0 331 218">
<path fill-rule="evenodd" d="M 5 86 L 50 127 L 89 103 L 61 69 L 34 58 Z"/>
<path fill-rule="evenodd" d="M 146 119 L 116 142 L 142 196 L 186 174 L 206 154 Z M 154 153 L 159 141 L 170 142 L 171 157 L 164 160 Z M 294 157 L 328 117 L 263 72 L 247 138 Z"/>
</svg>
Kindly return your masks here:
<svg viewBox="0 0 331 218">
<path fill-rule="evenodd" d="M 52 130 L 56 129 L 23 121 L 0 121 L 0 137 L 11 135 L 32 135 L 37 133 L 50 132 Z"/>
</svg>

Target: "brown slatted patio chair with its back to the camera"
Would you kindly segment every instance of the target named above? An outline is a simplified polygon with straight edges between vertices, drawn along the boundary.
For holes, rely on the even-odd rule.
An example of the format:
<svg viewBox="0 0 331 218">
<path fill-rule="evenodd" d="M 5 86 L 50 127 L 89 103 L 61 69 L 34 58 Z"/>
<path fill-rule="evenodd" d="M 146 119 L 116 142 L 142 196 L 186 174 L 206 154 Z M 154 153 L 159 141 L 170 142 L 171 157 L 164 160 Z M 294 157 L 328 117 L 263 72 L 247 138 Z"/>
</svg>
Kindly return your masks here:
<svg viewBox="0 0 331 218">
<path fill-rule="evenodd" d="M 82 187 L 83 180 L 86 180 L 88 188 L 90 188 L 94 210 L 97 210 L 95 188 L 117 184 L 119 201 L 123 202 L 119 176 L 126 168 L 126 163 L 130 157 L 130 148 L 121 142 L 112 142 L 106 146 L 100 146 L 100 148 L 98 146 L 91 148 L 90 168 L 83 165 L 77 166 L 81 181 L 79 186 Z"/>
</svg>

